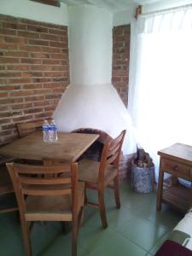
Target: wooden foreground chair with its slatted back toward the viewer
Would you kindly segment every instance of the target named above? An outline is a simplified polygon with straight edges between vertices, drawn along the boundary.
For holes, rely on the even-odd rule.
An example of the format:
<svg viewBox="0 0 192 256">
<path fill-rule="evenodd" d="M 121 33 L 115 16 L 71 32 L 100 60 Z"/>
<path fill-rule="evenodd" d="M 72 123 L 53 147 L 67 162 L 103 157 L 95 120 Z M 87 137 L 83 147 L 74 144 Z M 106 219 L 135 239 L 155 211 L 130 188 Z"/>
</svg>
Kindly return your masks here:
<svg viewBox="0 0 192 256">
<path fill-rule="evenodd" d="M 72 222 L 72 255 L 76 256 L 79 219 L 84 208 L 84 183 L 78 183 L 78 164 L 7 166 L 19 205 L 26 256 L 32 255 L 29 221 Z M 63 173 L 65 177 L 60 177 Z"/>
</svg>

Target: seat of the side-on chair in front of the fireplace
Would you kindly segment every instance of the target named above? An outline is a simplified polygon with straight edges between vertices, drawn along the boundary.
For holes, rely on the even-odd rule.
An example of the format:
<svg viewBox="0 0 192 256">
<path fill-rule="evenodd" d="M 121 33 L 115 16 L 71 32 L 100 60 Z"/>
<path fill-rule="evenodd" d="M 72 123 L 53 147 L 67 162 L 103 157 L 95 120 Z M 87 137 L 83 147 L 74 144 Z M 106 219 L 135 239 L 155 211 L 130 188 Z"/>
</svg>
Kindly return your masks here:
<svg viewBox="0 0 192 256">
<path fill-rule="evenodd" d="M 84 181 L 86 183 L 98 183 L 98 172 L 99 172 L 100 162 L 94 160 L 81 160 L 79 161 L 79 181 Z M 104 181 L 108 183 L 113 180 L 118 174 L 117 168 L 114 166 L 108 166 L 105 170 Z"/>
</svg>

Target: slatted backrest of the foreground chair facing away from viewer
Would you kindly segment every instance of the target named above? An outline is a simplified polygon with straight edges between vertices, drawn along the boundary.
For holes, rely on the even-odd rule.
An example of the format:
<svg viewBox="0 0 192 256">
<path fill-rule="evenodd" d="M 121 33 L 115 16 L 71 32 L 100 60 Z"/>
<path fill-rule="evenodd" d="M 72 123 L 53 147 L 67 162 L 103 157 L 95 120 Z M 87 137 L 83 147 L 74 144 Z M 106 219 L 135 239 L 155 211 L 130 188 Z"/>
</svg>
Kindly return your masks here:
<svg viewBox="0 0 192 256">
<path fill-rule="evenodd" d="M 78 207 L 78 164 L 62 166 L 6 165 L 12 179 L 20 213 L 26 212 L 25 195 L 70 195 L 72 212 Z M 65 173 L 65 177 L 60 174 Z"/>
</svg>

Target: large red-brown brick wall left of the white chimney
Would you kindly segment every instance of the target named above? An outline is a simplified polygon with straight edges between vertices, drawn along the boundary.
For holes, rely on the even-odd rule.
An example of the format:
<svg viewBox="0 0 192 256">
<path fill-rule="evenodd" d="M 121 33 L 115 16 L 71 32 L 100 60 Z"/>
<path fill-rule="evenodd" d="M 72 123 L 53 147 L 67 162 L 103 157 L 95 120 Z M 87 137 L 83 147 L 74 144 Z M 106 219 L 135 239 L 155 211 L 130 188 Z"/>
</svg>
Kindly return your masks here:
<svg viewBox="0 0 192 256">
<path fill-rule="evenodd" d="M 69 84 L 67 26 L 0 15 L 0 144 L 47 119 Z"/>
</svg>

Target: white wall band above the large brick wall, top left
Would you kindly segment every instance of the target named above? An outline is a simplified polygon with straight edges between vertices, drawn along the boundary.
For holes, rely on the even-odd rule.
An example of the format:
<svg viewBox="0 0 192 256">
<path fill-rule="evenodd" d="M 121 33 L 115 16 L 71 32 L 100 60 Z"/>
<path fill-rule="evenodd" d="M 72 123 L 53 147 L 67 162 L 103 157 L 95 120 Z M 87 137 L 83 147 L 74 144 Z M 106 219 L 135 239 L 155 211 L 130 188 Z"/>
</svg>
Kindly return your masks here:
<svg viewBox="0 0 192 256">
<path fill-rule="evenodd" d="M 67 25 L 67 5 L 55 7 L 29 0 L 0 0 L 0 14 Z"/>
</svg>

